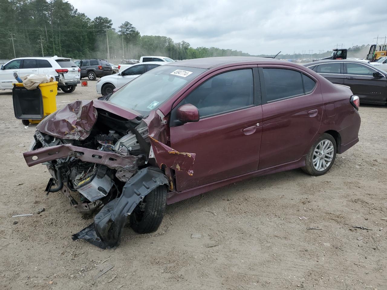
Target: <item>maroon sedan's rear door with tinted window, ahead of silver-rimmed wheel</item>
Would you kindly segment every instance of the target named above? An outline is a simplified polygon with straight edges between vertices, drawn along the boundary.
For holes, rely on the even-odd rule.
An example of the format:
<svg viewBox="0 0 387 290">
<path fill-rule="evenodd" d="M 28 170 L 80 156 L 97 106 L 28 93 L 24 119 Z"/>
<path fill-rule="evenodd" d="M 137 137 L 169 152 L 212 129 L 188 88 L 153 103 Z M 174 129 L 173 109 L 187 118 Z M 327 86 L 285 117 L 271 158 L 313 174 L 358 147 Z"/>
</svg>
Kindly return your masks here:
<svg viewBox="0 0 387 290">
<path fill-rule="evenodd" d="M 319 82 L 293 68 L 260 67 L 263 129 L 259 169 L 299 160 L 320 128 Z"/>
</svg>

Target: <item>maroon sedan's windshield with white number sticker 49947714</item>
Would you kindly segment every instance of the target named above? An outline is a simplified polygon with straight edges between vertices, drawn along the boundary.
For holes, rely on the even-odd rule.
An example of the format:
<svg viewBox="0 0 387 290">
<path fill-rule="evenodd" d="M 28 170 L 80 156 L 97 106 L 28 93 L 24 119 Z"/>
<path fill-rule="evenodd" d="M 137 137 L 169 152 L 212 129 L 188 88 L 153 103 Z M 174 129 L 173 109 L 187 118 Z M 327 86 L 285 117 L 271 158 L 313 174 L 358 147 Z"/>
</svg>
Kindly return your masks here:
<svg viewBox="0 0 387 290">
<path fill-rule="evenodd" d="M 129 82 L 111 95 L 109 101 L 147 116 L 203 72 L 203 68 L 161 65 Z"/>
</svg>

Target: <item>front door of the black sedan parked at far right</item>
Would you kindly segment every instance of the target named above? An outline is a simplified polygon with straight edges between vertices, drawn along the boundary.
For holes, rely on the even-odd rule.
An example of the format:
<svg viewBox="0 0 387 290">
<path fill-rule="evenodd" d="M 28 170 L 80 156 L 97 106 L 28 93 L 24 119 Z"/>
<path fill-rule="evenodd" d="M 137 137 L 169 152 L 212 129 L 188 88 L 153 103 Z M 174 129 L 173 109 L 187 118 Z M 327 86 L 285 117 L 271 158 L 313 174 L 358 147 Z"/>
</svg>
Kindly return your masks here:
<svg viewBox="0 0 387 290">
<path fill-rule="evenodd" d="M 344 85 L 351 87 L 354 95 L 360 97 L 363 102 L 386 102 L 387 78 L 374 77 L 377 72 L 371 67 L 361 63 L 344 63 L 345 79 Z"/>
</svg>

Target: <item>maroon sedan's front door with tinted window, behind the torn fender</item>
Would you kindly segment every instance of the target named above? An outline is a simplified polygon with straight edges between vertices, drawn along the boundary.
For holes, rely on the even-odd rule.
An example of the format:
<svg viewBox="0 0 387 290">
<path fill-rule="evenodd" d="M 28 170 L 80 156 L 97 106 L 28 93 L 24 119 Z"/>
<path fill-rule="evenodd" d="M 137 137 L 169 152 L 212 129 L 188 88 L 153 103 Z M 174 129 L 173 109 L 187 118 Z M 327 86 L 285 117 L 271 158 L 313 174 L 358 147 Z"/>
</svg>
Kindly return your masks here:
<svg viewBox="0 0 387 290">
<path fill-rule="evenodd" d="M 171 147 L 196 154 L 192 176 L 176 171 L 177 191 L 258 169 L 262 107 L 253 77 L 258 70 L 228 70 L 207 77 L 171 113 Z M 183 104 L 199 109 L 198 122 L 179 123 L 176 110 Z"/>
</svg>

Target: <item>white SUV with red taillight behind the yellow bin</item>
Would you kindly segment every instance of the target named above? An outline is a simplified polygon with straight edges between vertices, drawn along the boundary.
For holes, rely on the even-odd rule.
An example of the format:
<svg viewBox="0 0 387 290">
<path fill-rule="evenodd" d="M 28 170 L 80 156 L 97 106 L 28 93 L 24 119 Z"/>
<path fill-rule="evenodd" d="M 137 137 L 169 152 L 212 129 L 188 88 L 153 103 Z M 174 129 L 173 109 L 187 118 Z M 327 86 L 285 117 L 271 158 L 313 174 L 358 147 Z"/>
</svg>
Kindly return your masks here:
<svg viewBox="0 0 387 290">
<path fill-rule="evenodd" d="M 53 75 L 58 82 L 58 90 L 66 93 L 74 92 L 80 84 L 80 68 L 70 58 L 22 57 L 14 58 L 0 67 L 0 90 L 12 90 L 16 82 L 14 73 L 19 77 L 31 74 Z"/>
</svg>

